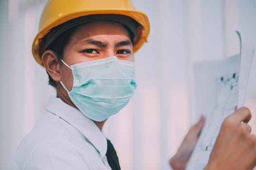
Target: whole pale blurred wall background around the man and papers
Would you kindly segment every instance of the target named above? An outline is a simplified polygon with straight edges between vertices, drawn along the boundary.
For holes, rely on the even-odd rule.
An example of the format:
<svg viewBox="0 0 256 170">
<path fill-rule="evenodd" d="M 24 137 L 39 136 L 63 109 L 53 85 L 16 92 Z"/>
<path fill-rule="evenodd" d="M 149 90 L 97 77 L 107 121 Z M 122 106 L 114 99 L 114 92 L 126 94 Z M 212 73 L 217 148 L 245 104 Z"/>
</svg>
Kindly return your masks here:
<svg viewBox="0 0 256 170">
<path fill-rule="evenodd" d="M 46 0 L 0 0 L 0 170 L 44 113 L 44 68 L 31 46 Z M 256 0 L 133 0 L 150 20 L 148 43 L 135 54 L 138 87 L 104 132 L 123 170 L 158 170 L 177 151 L 195 112 L 193 64 L 239 52 L 235 30 L 256 46 Z M 256 59 L 245 105 L 256 132 Z"/>
</svg>

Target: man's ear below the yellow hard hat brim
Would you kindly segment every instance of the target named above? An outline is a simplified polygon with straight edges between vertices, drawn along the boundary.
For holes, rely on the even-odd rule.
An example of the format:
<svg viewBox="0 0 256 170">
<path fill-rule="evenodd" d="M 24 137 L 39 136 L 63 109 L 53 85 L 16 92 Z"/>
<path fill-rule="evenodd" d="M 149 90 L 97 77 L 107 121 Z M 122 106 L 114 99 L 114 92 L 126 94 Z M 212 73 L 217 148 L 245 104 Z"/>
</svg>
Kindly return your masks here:
<svg viewBox="0 0 256 170">
<path fill-rule="evenodd" d="M 60 65 L 58 57 L 52 50 L 47 50 L 42 55 L 42 63 L 48 74 L 52 77 L 55 82 L 61 80 L 60 76 Z"/>
</svg>

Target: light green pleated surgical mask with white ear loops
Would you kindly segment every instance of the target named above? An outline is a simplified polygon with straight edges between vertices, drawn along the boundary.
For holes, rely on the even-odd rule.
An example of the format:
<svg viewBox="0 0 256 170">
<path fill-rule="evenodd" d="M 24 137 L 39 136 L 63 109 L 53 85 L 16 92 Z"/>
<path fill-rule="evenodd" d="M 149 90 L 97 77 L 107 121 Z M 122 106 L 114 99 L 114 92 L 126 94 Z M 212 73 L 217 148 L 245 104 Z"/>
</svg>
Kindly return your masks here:
<svg viewBox="0 0 256 170">
<path fill-rule="evenodd" d="M 89 119 L 103 121 L 124 108 L 136 89 L 134 63 L 117 57 L 68 66 L 73 88 L 67 90 L 74 105 Z"/>
</svg>

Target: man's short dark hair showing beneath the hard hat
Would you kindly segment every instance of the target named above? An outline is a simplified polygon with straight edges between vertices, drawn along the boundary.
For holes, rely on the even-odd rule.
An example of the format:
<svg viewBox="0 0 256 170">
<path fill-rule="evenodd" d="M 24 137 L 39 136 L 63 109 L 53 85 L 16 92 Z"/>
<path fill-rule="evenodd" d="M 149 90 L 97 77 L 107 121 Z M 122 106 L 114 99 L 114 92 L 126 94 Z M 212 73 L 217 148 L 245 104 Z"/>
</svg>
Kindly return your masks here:
<svg viewBox="0 0 256 170">
<path fill-rule="evenodd" d="M 124 25 L 125 26 L 125 25 Z M 79 27 L 75 26 L 65 32 L 63 32 L 62 34 L 58 35 L 52 42 L 51 44 L 45 49 L 45 51 L 47 50 L 52 50 L 55 52 L 55 54 L 58 57 L 58 61 L 60 61 L 60 59 L 62 59 L 63 57 L 63 52 L 65 47 L 67 46 L 67 44 L 69 43 L 72 35 L 74 34 L 75 30 Z M 132 45 L 134 44 L 134 35 L 132 34 L 132 32 L 128 29 L 127 26 L 125 26 L 125 28 L 128 30 L 128 34 L 131 40 Z M 47 71 L 46 71 L 47 72 Z M 56 82 L 53 80 L 53 78 L 50 76 L 50 74 L 47 72 L 48 77 L 49 77 L 49 85 L 52 85 L 53 87 L 56 86 Z"/>
</svg>

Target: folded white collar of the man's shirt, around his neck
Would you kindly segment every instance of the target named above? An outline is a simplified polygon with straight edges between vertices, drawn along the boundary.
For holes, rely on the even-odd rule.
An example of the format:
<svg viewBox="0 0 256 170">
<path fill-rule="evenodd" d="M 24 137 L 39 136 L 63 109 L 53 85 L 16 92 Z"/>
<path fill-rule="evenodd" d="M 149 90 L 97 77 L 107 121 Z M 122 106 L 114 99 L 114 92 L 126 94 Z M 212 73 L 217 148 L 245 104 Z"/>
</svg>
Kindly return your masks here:
<svg viewBox="0 0 256 170">
<path fill-rule="evenodd" d="M 82 133 L 91 144 L 98 150 L 102 157 L 107 153 L 107 139 L 97 125 L 84 116 L 78 109 L 66 104 L 60 98 L 50 96 L 46 110 L 64 119 L 80 133 Z"/>
</svg>

